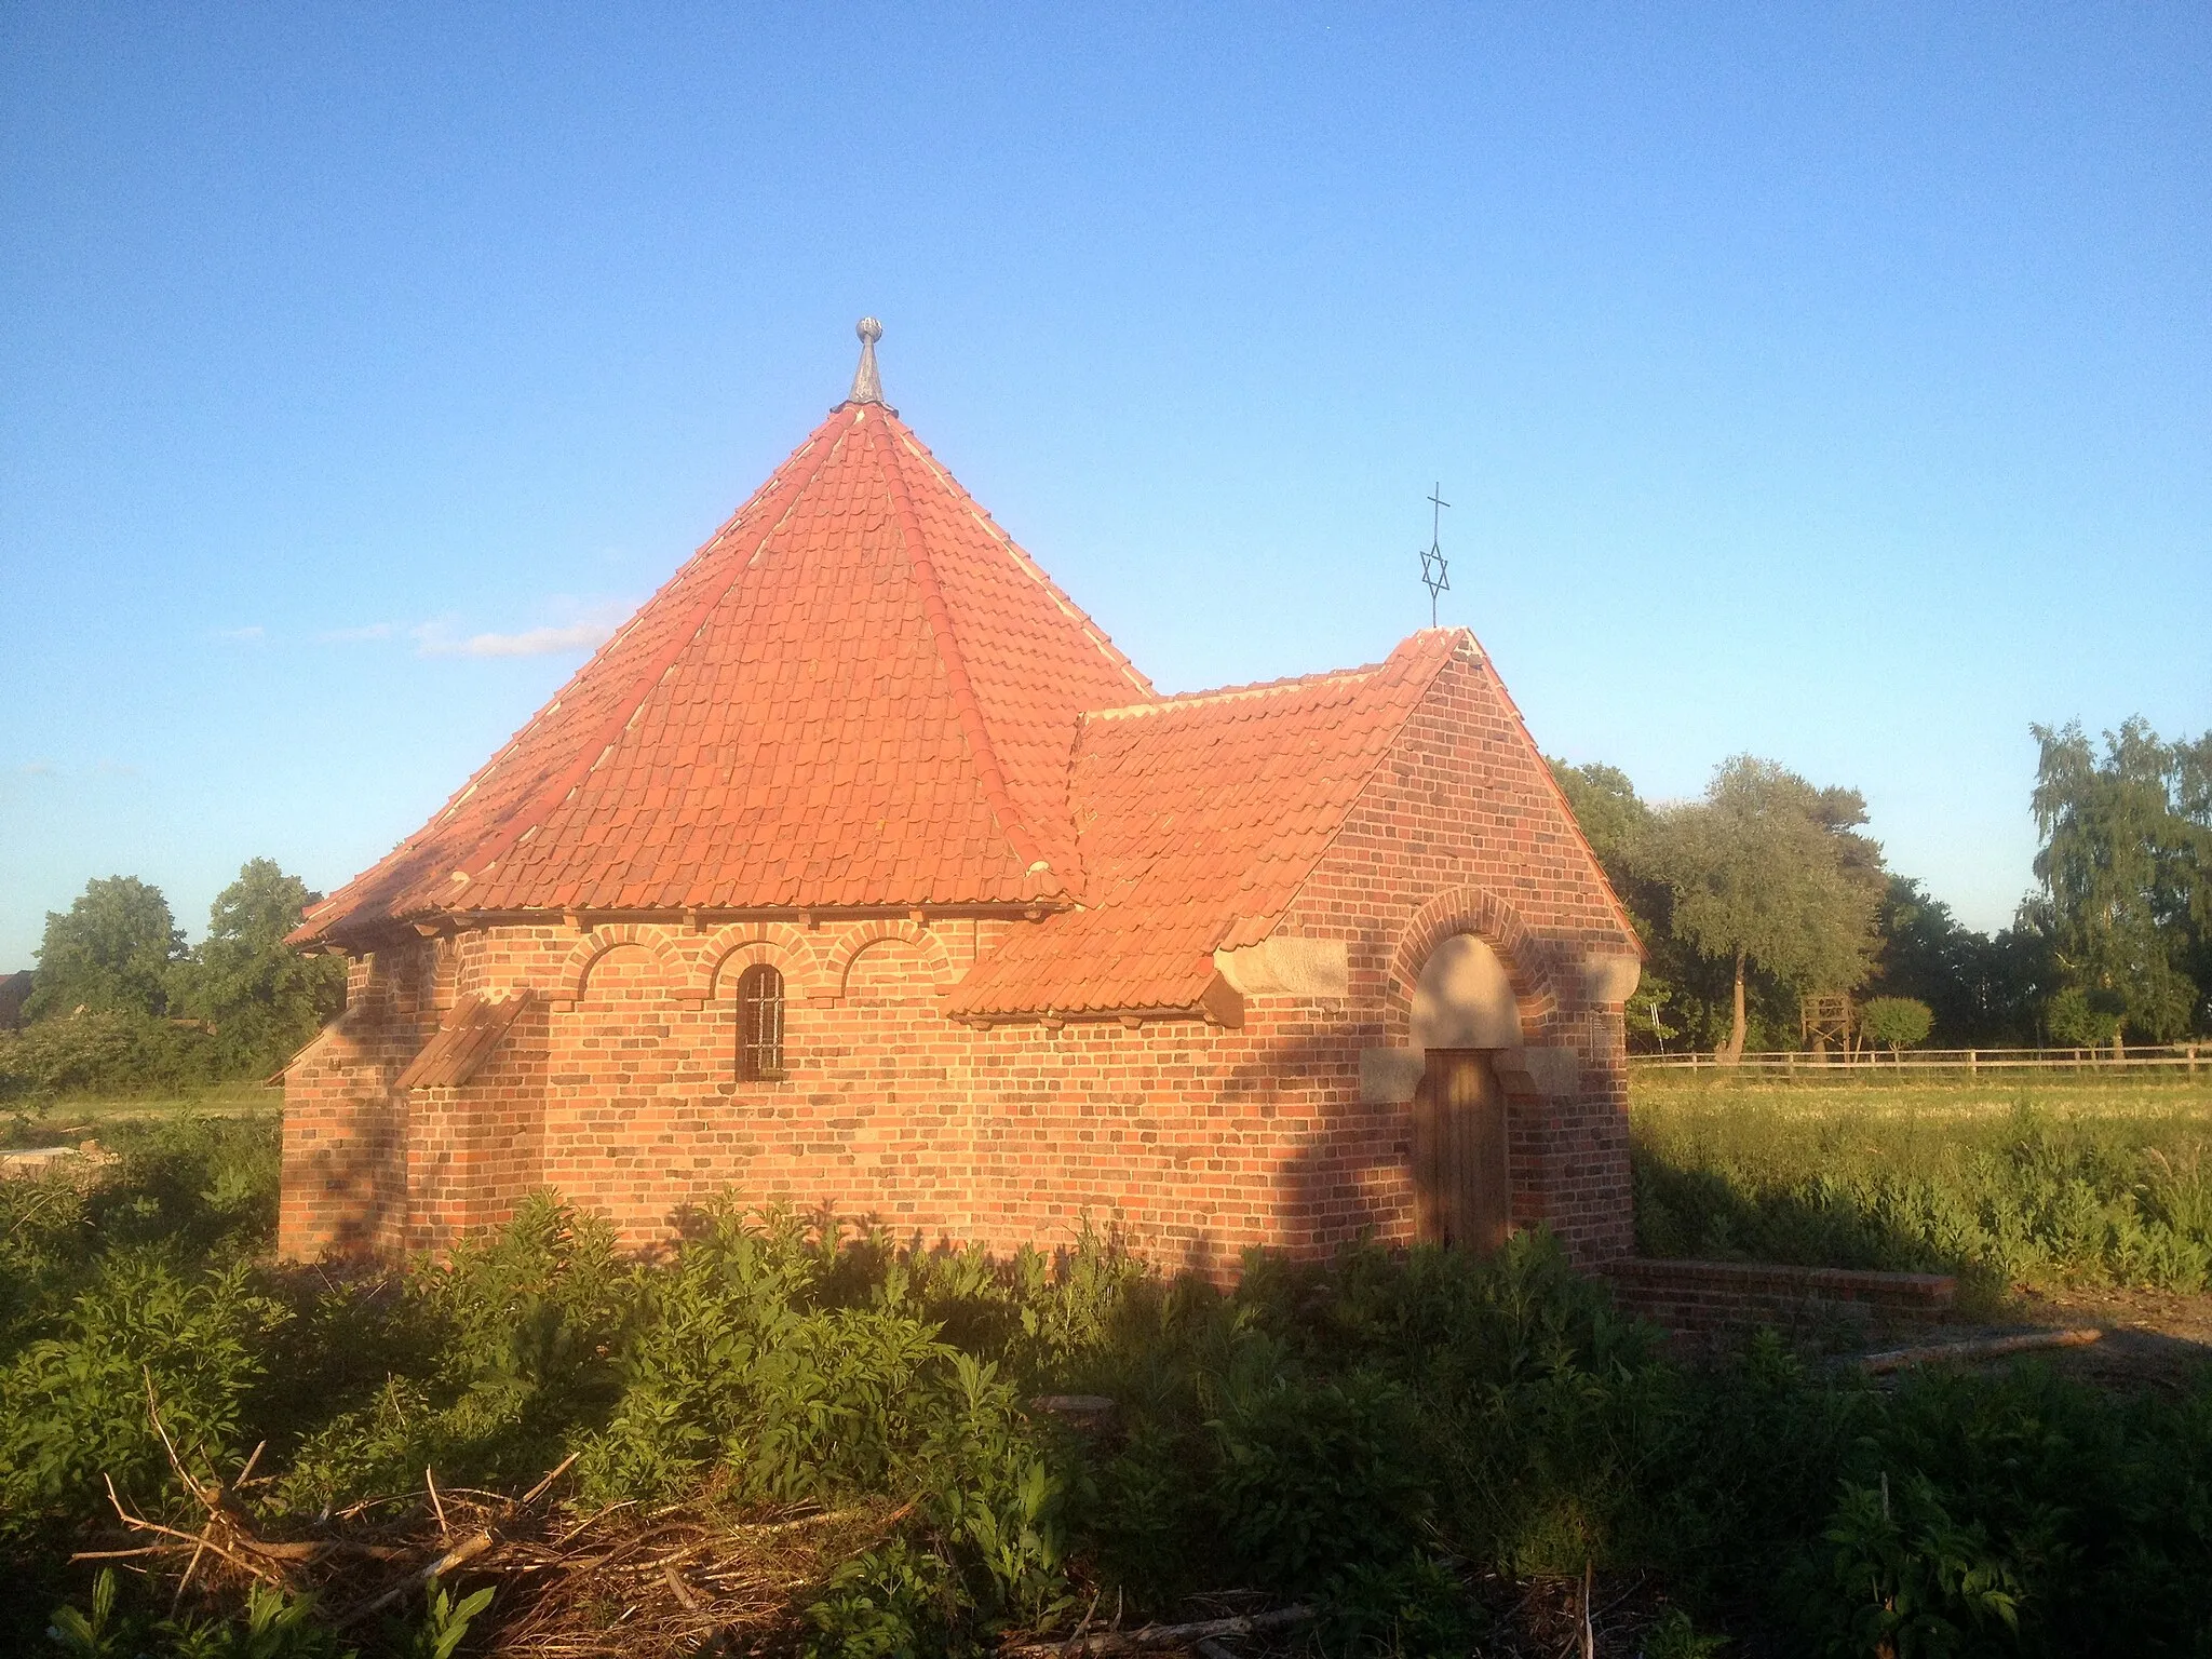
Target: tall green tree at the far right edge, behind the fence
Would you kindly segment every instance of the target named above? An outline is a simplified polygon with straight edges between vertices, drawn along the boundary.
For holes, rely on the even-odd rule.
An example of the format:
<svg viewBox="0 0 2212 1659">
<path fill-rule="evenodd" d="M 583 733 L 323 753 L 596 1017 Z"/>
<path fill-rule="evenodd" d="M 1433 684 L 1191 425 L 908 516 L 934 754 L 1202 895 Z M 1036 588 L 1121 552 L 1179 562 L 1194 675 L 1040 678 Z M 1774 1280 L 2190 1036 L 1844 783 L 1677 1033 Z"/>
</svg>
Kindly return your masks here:
<svg viewBox="0 0 2212 1659">
<path fill-rule="evenodd" d="M 2208 1020 L 2212 980 L 2212 732 L 2161 743 L 2141 719 L 2104 734 L 2031 726 L 2035 876 L 2066 989 L 2115 1002 L 2124 1029 L 2166 1042 Z M 2068 1004 L 2068 1024 L 2095 1013 Z M 2053 1004 L 2055 1006 L 2055 1004 Z"/>
</svg>

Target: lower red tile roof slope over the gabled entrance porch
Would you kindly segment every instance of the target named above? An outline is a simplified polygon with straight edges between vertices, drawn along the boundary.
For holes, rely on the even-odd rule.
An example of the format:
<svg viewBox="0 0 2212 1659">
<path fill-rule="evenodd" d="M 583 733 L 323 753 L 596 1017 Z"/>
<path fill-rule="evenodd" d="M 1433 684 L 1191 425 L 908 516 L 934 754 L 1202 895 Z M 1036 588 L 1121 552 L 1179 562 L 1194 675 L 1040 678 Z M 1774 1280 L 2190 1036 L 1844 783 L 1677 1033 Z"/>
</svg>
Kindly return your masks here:
<svg viewBox="0 0 2212 1659">
<path fill-rule="evenodd" d="M 1369 668 L 1086 714 L 1084 909 L 1018 929 L 947 1011 L 1199 1006 L 1214 949 L 1267 938 L 1462 637 L 1429 628 Z"/>
</svg>

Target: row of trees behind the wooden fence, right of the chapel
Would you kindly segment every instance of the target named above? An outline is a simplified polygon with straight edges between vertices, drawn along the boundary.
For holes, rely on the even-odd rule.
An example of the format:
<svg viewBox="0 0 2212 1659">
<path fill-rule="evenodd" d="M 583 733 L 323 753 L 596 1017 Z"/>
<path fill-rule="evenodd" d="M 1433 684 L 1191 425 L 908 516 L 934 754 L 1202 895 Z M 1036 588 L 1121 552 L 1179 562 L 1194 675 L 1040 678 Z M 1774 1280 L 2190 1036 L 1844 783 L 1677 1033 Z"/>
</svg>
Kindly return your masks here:
<svg viewBox="0 0 2212 1659">
<path fill-rule="evenodd" d="M 2212 1035 L 2212 732 L 2031 730 L 2037 885 L 1997 933 L 1889 869 L 1858 790 L 1739 754 L 1697 801 L 1648 803 L 1619 768 L 1553 761 L 1648 951 L 1630 1046 L 1796 1048 L 1803 998 L 1843 993 L 1885 1046 Z"/>
</svg>

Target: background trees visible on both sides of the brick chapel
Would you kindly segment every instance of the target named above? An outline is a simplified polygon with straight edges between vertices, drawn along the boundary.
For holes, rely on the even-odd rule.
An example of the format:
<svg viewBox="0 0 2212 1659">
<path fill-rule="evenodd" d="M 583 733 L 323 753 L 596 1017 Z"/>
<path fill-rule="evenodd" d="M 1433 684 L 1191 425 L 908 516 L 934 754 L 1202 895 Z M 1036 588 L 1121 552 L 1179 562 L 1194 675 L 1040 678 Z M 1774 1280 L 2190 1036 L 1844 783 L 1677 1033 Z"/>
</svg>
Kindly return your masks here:
<svg viewBox="0 0 2212 1659">
<path fill-rule="evenodd" d="M 1619 768 L 1553 761 L 1648 951 L 1630 1046 L 1794 1048 L 1816 993 L 1856 995 L 1889 1046 L 2212 1035 L 2212 732 L 2033 732 L 2037 887 L 1997 933 L 1889 869 L 1858 790 L 1739 754 L 1701 799 L 1650 803 Z M 0 1099 L 265 1077 L 345 1004 L 343 960 L 283 942 L 316 898 L 254 858 L 186 949 L 159 887 L 86 883 L 46 914 Z"/>
</svg>

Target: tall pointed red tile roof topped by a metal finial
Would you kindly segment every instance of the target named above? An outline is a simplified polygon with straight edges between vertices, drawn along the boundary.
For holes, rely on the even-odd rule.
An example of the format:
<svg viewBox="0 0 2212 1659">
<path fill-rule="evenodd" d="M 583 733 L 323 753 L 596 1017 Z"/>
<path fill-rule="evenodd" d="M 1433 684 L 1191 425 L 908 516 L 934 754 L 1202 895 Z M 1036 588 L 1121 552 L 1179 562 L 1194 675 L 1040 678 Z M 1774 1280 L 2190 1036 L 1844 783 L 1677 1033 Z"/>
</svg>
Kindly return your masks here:
<svg viewBox="0 0 2212 1659">
<path fill-rule="evenodd" d="M 883 403 L 878 334 L 852 398 L 299 942 L 1082 887 L 1077 719 L 1152 686 Z"/>
</svg>

